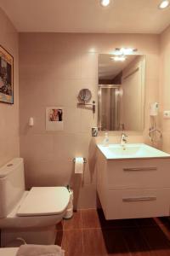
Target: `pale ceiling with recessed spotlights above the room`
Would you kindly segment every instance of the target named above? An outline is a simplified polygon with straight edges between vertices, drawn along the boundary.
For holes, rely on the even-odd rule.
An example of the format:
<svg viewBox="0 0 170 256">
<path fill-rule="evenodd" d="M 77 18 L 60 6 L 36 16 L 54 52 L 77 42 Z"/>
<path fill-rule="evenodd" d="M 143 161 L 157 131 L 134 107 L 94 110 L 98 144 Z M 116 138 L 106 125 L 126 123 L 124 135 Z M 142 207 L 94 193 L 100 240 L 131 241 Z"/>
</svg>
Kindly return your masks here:
<svg viewBox="0 0 170 256">
<path fill-rule="evenodd" d="M 0 0 L 18 32 L 160 33 L 170 24 L 161 0 Z"/>
</svg>

